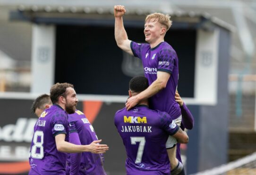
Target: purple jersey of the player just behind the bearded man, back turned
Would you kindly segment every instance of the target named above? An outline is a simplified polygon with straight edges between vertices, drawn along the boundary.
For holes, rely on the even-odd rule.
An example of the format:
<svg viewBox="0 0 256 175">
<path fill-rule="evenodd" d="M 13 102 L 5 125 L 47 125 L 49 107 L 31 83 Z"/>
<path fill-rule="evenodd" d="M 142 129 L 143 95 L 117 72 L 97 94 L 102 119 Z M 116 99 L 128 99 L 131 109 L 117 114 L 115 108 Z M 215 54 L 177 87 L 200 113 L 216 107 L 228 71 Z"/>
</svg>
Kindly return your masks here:
<svg viewBox="0 0 256 175">
<path fill-rule="evenodd" d="M 77 132 L 82 145 L 90 144 L 98 140 L 93 126 L 81 111 L 68 114 L 69 132 Z M 80 161 L 79 175 L 106 175 L 103 168 L 103 155 L 83 152 Z M 68 156 L 67 171 L 70 169 L 70 157 Z"/>
</svg>

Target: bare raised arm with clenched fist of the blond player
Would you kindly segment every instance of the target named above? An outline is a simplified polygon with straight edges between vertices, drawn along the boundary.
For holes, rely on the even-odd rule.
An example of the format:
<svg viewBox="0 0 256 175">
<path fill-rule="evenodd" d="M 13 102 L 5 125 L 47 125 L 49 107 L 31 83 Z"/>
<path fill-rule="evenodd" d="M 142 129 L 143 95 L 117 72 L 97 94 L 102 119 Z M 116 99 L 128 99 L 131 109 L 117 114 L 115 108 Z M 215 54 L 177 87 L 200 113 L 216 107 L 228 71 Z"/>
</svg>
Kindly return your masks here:
<svg viewBox="0 0 256 175">
<path fill-rule="evenodd" d="M 119 48 L 133 56 L 130 44 L 131 40 L 128 40 L 127 33 L 123 24 L 123 15 L 126 9 L 122 5 L 114 6 L 114 16 L 115 16 L 115 39 Z"/>
</svg>

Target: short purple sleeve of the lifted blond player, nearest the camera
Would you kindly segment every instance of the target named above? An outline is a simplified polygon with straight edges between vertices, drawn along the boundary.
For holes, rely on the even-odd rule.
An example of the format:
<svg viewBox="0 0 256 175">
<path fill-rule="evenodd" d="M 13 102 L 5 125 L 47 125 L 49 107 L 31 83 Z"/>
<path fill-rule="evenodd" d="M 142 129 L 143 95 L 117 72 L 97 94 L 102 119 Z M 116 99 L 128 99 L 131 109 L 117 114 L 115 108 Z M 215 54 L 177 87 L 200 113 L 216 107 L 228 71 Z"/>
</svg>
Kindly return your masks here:
<svg viewBox="0 0 256 175">
<path fill-rule="evenodd" d="M 158 71 L 172 73 L 177 54 L 172 48 L 162 48 L 159 54 Z"/>
</svg>

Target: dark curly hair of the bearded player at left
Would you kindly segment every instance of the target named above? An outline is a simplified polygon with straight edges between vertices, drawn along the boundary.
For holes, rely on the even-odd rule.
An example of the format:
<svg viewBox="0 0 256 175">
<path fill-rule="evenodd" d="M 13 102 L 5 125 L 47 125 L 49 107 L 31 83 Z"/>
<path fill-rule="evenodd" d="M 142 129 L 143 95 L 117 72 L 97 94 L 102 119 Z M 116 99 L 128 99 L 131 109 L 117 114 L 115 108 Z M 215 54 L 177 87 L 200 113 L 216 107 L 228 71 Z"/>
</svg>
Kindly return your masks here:
<svg viewBox="0 0 256 175">
<path fill-rule="evenodd" d="M 58 102 L 60 96 L 66 97 L 67 88 L 74 88 L 74 85 L 69 83 L 56 83 L 55 85 L 53 85 L 50 90 L 51 102 L 55 104 L 56 102 Z"/>
</svg>

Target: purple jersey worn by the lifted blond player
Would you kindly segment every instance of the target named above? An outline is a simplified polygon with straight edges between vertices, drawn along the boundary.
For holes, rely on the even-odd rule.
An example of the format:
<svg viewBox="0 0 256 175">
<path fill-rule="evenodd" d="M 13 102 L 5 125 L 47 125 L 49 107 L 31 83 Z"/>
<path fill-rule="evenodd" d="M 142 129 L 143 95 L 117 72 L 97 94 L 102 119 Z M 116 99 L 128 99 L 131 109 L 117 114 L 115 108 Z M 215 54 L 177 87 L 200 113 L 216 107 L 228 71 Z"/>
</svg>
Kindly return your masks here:
<svg viewBox="0 0 256 175">
<path fill-rule="evenodd" d="M 155 48 L 150 48 L 149 44 L 132 41 L 130 47 L 133 55 L 142 60 L 149 85 L 157 79 L 157 71 L 171 74 L 166 88 L 150 98 L 150 108 L 165 111 L 172 119 L 177 119 L 181 112 L 174 98 L 179 79 L 179 60 L 175 50 L 167 42 L 161 42 Z"/>
</svg>

